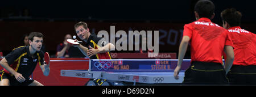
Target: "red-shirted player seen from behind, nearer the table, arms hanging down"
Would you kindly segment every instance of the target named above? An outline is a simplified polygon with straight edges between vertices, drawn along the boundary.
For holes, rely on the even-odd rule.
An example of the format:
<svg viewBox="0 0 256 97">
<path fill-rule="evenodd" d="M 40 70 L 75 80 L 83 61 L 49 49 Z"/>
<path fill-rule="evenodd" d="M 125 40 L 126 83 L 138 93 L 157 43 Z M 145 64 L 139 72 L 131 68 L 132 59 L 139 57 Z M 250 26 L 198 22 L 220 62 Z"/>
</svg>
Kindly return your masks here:
<svg viewBox="0 0 256 97">
<path fill-rule="evenodd" d="M 183 83 L 228 84 L 226 71 L 229 71 L 234 60 L 233 43 L 228 31 L 210 21 L 214 17 L 214 4 L 211 1 L 198 1 L 195 17 L 195 22 L 184 26 L 174 77 L 179 78 L 181 63 L 188 44 L 191 44 L 191 66 L 185 71 Z M 225 68 L 221 65 L 223 51 L 227 54 Z"/>
</svg>

